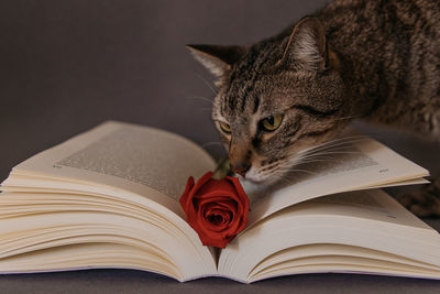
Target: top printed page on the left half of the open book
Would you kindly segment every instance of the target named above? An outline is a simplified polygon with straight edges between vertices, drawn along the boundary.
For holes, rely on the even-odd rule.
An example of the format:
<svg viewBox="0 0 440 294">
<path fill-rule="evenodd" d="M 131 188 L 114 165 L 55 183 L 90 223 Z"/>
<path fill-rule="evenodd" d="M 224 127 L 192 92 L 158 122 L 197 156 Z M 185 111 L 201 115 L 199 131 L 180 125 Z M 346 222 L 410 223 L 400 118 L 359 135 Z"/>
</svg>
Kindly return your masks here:
<svg viewBox="0 0 440 294">
<path fill-rule="evenodd" d="M 101 184 L 154 197 L 176 210 L 188 177 L 197 178 L 215 166 L 207 152 L 177 134 L 110 121 L 24 161 L 13 168 L 12 177 Z M 8 184 L 7 179 L 2 185 Z"/>
</svg>

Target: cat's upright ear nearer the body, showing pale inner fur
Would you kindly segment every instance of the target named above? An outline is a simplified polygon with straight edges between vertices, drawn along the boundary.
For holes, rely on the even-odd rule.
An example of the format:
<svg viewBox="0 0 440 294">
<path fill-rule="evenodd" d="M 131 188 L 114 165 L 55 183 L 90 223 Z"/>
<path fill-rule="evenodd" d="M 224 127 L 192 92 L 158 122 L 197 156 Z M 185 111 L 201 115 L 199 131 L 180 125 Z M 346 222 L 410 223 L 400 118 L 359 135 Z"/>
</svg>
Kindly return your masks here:
<svg viewBox="0 0 440 294">
<path fill-rule="evenodd" d="M 317 18 L 300 20 L 293 29 L 282 59 L 306 70 L 322 70 L 327 66 L 326 31 Z"/>
</svg>

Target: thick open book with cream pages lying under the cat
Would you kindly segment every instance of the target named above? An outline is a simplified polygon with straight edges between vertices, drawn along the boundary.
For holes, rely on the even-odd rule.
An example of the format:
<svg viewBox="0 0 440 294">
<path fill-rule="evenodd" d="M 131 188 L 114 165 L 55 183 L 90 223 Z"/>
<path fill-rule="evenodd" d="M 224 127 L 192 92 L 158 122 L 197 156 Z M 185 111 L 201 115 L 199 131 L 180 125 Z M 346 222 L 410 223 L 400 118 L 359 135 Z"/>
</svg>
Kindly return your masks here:
<svg viewBox="0 0 440 294">
<path fill-rule="evenodd" d="M 439 279 L 439 233 L 373 189 L 425 183 L 428 172 L 372 139 L 344 146 L 352 152 L 306 166 L 315 170 L 290 177 L 292 185 L 250 192 L 248 228 L 219 251 L 201 244 L 178 205 L 188 176 L 213 170 L 215 161 L 179 135 L 106 122 L 24 161 L 2 183 L 0 273 L 124 268 L 178 281 L 311 272 Z"/>
</svg>

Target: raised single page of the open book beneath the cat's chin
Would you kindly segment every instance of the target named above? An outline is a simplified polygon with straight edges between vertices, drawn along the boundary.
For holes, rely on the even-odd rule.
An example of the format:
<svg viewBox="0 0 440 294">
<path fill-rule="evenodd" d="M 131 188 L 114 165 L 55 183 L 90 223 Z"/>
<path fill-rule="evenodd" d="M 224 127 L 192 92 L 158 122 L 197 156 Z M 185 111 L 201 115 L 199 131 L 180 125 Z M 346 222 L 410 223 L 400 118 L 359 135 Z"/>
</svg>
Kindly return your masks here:
<svg viewBox="0 0 440 294">
<path fill-rule="evenodd" d="M 255 188 L 244 182 L 251 198 L 250 225 L 285 207 L 323 195 L 400 183 L 428 183 L 421 178 L 429 175 L 427 170 L 371 138 L 361 139 L 324 150 L 327 157 L 295 166 L 273 187 Z"/>
</svg>

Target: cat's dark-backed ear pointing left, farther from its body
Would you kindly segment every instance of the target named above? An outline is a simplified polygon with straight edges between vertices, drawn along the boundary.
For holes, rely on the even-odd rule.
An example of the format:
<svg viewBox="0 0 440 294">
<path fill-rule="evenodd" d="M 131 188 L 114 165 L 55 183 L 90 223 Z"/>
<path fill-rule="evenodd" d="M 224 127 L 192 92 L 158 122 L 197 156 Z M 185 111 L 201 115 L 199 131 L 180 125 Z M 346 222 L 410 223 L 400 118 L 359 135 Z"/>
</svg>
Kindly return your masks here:
<svg viewBox="0 0 440 294">
<path fill-rule="evenodd" d="M 187 47 L 196 59 L 217 77 L 223 76 L 246 53 L 246 48 L 242 46 L 187 45 Z"/>
</svg>

